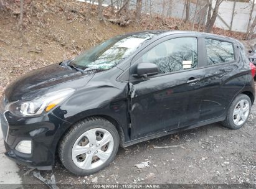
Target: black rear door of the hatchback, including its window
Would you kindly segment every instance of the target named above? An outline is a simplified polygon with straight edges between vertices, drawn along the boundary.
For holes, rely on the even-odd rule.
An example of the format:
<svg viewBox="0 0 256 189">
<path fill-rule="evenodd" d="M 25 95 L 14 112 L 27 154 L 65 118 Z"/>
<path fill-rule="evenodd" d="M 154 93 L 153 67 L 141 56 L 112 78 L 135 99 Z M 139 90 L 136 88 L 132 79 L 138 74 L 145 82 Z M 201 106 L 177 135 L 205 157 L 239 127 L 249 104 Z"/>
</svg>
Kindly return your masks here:
<svg viewBox="0 0 256 189">
<path fill-rule="evenodd" d="M 244 87 L 246 76 L 239 47 L 232 41 L 206 37 L 204 49 L 204 98 L 200 121 L 221 118 L 234 96 Z"/>
</svg>

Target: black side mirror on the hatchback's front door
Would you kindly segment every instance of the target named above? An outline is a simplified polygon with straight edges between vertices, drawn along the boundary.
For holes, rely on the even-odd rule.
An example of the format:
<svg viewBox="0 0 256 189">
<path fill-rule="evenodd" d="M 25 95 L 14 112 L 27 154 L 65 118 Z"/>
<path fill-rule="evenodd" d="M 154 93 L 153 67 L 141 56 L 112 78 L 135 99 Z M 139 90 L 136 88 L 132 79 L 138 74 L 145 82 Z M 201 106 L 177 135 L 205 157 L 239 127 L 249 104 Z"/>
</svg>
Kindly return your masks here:
<svg viewBox="0 0 256 189">
<path fill-rule="evenodd" d="M 156 75 L 159 73 L 158 65 L 154 63 L 138 63 L 132 76 L 135 77 L 147 77 L 151 75 Z"/>
</svg>

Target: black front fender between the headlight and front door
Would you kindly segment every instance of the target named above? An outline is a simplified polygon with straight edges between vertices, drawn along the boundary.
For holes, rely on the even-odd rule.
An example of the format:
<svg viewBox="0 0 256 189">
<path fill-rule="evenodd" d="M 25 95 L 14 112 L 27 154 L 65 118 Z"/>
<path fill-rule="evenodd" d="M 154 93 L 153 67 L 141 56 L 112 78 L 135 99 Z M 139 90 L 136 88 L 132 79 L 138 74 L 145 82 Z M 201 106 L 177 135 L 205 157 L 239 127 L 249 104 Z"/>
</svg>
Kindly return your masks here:
<svg viewBox="0 0 256 189">
<path fill-rule="evenodd" d="M 52 112 L 65 121 L 60 137 L 75 122 L 91 116 L 101 116 L 115 121 L 123 135 L 122 141 L 128 141 L 127 95 L 127 83 L 117 81 L 115 84 L 104 82 L 104 85 L 102 82 L 90 82 L 86 88 L 75 91 L 65 103 Z"/>
</svg>

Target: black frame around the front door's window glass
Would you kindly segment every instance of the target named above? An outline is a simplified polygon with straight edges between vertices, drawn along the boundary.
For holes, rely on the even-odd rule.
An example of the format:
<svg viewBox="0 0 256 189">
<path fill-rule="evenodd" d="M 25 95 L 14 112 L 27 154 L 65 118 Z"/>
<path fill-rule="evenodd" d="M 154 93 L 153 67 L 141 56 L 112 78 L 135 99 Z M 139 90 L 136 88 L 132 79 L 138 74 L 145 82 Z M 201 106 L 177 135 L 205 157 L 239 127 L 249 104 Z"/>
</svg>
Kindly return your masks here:
<svg viewBox="0 0 256 189">
<path fill-rule="evenodd" d="M 168 35 L 166 37 L 161 37 L 160 39 L 154 41 L 153 43 L 149 44 L 147 47 L 145 47 L 143 50 L 141 50 L 141 52 L 137 53 L 133 59 L 131 60 L 131 64 L 130 64 L 130 68 L 134 67 L 137 63 L 138 60 L 140 60 L 140 58 L 145 55 L 145 53 L 149 52 L 149 50 L 151 50 L 152 48 L 156 47 L 156 45 L 159 45 L 167 40 L 171 40 L 171 39 L 176 39 L 176 38 L 184 38 L 184 37 L 193 37 L 196 38 L 196 42 L 197 42 L 197 67 L 196 68 L 191 68 L 191 69 L 187 69 L 187 70 L 178 70 L 178 71 L 173 71 L 173 72 L 168 72 L 168 73 L 159 73 L 157 75 L 153 75 L 153 76 L 148 76 L 146 79 L 149 78 L 156 78 L 158 76 L 165 76 L 165 75 L 171 75 L 171 74 L 176 74 L 176 73 L 182 73 L 185 71 L 192 71 L 192 70 L 199 70 L 202 68 L 202 60 L 203 58 L 199 58 L 201 56 L 201 54 L 199 54 L 199 52 L 201 51 L 201 47 L 199 46 L 199 41 L 201 42 L 201 37 L 197 34 L 174 34 L 174 35 Z M 130 70 L 130 68 L 128 68 Z M 141 78 L 135 78 L 133 76 L 131 76 L 131 73 L 129 71 L 129 80 L 130 81 L 134 81 L 134 80 L 141 80 Z"/>
</svg>

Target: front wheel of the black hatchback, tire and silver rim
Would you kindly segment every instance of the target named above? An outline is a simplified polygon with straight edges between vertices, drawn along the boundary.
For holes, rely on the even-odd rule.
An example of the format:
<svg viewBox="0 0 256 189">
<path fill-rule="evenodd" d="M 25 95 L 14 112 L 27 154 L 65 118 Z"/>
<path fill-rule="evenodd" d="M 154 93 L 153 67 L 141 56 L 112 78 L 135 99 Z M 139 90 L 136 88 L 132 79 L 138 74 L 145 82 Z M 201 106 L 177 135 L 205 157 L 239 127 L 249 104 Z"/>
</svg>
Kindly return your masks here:
<svg viewBox="0 0 256 189">
<path fill-rule="evenodd" d="M 108 140 L 110 142 L 106 143 Z M 106 119 L 92 117 L 77 122 L 65 134 L 59 144 L 59 157 L 73 174 L 91 175 L 113 161 L 118 147 L 119 135 L 115 126 Z M 85 150 L 83 154 L 81 150 Z"/>
</svg>

